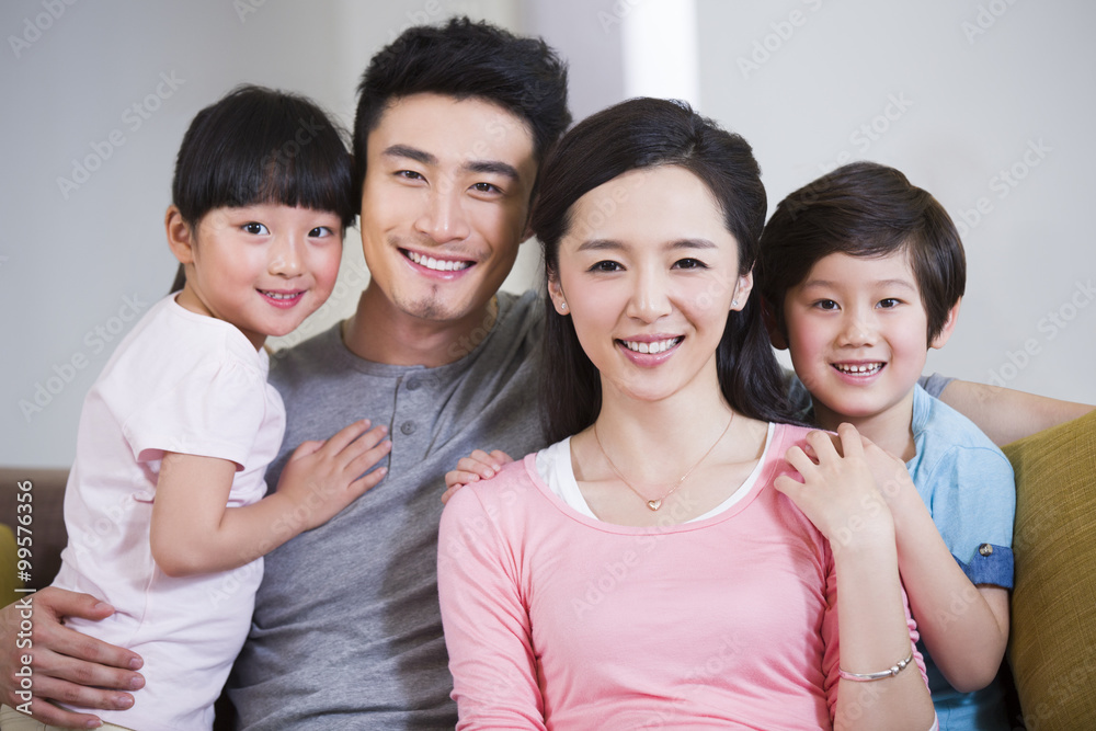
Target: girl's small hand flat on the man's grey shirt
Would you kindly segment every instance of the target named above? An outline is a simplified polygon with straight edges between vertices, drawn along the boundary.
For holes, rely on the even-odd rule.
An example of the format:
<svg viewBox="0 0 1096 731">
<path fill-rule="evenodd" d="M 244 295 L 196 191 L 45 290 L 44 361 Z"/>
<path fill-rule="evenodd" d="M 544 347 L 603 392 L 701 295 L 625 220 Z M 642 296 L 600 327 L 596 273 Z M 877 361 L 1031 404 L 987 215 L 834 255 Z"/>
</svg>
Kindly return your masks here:
<svg viewBox="0 0 1096 731">
<path fill-rule="evenodd" d="M 385 426 L 369 429 L 369 420 L 354 422 L 326 442 L 305 442 L 282 470 L 277 494 L 304 509 L 305 529 L 327 523 L 388 472 L 370 467 L 391 452 Z"/>
</svg>

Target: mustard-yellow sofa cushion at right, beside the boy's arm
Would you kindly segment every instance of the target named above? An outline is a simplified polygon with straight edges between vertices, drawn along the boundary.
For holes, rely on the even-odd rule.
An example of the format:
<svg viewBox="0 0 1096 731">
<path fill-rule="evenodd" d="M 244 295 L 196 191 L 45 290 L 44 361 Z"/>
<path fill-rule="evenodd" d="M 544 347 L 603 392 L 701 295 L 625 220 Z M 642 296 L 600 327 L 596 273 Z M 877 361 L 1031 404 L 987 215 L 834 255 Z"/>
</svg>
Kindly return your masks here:
<svg viewBox="0 0 1096 731">
<path fill-rule="evenodd" d="M 1096 719 L 1096 412 L 1004 452 L 1016 471 L 1008 661 L 1024 720 L 1085 728 Z"/>
</svg>

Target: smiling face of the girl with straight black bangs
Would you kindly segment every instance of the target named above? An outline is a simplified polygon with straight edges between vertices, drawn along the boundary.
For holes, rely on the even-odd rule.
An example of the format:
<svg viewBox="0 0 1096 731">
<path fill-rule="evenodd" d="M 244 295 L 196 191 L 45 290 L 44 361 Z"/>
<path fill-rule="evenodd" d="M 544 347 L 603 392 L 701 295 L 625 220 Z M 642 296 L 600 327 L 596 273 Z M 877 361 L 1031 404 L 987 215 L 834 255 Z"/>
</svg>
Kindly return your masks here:
<svg viewBox="0 0 1096 731">
<path fill-rule="evenodd" d="M 322 305 L 339 275 L 342 224 L 281 204 L 214 208 L 194 229 L 168 208 L 168 240 L 186 267 L 178 302 L 225 320 L 262 347 Z"/>
</svg>

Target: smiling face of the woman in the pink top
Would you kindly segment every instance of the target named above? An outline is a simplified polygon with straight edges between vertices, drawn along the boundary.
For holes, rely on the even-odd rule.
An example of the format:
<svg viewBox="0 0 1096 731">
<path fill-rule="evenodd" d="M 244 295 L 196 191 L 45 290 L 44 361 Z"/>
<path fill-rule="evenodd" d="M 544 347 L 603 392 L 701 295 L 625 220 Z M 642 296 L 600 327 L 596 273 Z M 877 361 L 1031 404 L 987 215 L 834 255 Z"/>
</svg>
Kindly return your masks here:
<svg viewBox="0 0 1096 731">
<path fill-rule="evenodd" d="M 739 275 L 738 242 L 707 185 L 675 165 L 632 170 L 583 195 L 570 216 L 549 293 L 603 395 L 712 398 L 716 347 L 753 278 Z"/>
</svg>

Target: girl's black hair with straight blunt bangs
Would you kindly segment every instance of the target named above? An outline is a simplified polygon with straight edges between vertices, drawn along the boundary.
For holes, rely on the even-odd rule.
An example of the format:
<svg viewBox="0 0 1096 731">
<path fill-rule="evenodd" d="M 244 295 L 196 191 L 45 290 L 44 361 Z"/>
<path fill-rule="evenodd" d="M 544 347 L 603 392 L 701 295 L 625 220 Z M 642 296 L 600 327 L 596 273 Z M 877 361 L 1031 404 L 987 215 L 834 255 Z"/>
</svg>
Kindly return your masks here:
<svg viewBox="0 0 1096 731">
<path fill-rule="evenodd" d="M 192 228 L 214 208 L 274 203 L 354 222 L 343 133 L 312 101 L 242 85 L 194 117 L 175 159 L 171 201 Z M 171 292 L 183 288 L 180 265 Z"/>
</svg>

